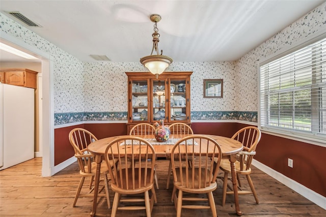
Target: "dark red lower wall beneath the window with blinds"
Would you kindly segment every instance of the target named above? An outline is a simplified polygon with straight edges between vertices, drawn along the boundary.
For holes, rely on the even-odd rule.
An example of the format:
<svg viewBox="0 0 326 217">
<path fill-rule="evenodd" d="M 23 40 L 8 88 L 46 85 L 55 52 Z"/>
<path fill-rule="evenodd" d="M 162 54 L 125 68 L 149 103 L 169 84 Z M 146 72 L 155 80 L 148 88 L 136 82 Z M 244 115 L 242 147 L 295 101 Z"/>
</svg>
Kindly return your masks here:
<svg viewBox="0 0 326 217">
<path fill-rule="evenodd" d="M 262 133 L 255 159 L 326 197 L 326 148 Z M 293 159 L 293 168 L 287 166 Z"/>
</svg>

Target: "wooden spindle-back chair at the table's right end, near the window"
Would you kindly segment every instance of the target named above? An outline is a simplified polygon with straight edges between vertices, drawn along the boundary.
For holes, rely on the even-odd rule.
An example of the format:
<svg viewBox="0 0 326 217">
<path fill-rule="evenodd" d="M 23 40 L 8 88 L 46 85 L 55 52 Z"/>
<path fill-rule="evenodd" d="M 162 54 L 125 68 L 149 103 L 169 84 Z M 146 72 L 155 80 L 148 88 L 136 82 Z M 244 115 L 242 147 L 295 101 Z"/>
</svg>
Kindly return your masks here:
<svg viewBox="0 0 326 217">
<path fill-rule="evenodd" d="M 239 186 L 239 195 L 243 194 L 253 194 L 258 204 L 257 193 L 251 180 L 251 163 L 256 154 L 256 147 L 259 143 L 261 137 L 260 130 L 255 126 L 248 126 L 238 130 L 232 137 L 232 139 L 237 140 L 243 144 L 243 151 L 239 152 L 237 156 L 237 160 L 235 161 L 235 170 L 238 180 Z M 215 159 L 216 160 L 216 159 Z M 228 174 L 231 173 L 230 161 L 228 159 L 222 159 L 220 169 L 224 172 L 223 178 L 223 197 L 222 197 L 222 205 L 225 205 L 226 195 L 233 194 L 233 191 L 227 191 L 227 187 L 231 189 L 228 185 Z M 251 191 L 242 191 L 241 182 L 239 175 L 246 175 L 248 183 L 250 185 Z"/>
</svg>

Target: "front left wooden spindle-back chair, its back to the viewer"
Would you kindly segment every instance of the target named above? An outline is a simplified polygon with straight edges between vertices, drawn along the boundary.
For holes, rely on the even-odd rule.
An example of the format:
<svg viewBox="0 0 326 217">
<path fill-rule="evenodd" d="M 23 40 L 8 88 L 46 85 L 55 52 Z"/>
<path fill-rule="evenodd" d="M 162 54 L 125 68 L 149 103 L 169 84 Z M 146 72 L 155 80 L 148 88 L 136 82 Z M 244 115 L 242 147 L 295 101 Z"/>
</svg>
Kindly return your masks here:
<svg viewBox="0 0 326 217">
<path fill-rule="evenodd" d="M 117 154 L 119 150 L 119 154 Z M 127 153 L 128 151 L 128 153 Z M 105 162 L 112 177 L 111 188 L 115 192 L 111 216 L 117 210 L 146 209 L 151 216 L 153 202 L 156 202 L 154 189 L 155 151 L 146 140 L 129 135 L 112 141 L 105 149 Z M 118 161 L 117 165 L 112 162 Z M 131 165 L 130 165 L 131 164 Z M 152 197 L 149 197 L 149 191 Z M 122 198 L 122 195 L 144 193 L 145 198 Z M 145 206 L 121 206 L 119 202 L 145 202 Z"/>
</svg>

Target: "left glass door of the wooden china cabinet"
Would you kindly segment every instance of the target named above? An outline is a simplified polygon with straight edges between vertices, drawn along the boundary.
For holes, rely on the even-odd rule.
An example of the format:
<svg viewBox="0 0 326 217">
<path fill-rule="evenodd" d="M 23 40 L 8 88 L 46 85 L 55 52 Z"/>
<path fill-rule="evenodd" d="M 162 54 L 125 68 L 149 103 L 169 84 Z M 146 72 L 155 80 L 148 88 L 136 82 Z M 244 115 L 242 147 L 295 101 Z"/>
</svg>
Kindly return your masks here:
<svg viewBox="0 0 326 217">
<path fill-rule="evenodd" d="M 131 120 L 148 121 L 148 80 L 131 80 Z"/>
</svg>

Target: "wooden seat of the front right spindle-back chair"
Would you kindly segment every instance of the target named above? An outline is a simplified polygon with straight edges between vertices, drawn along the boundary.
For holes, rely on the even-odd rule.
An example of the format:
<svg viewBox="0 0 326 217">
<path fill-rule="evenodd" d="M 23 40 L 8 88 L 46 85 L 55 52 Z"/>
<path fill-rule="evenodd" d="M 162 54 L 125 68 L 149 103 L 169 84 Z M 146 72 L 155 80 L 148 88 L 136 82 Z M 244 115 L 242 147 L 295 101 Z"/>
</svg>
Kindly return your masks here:
<svg viewBox="0 0 326 217">
<path fill-rule="evenodd" d="M 205 174 L 205 170 L 202 169 L 202 174 Z M 194 186 L 193 186 L 193 181 L 192 181 L 192 177 L 193 177 L 193 170 L 189 169 L 188 171 L 188 186 L 186 186 L 186 172 L 185 170 L 182 171 L 182 180 L 183 180 L 183 184 L 181 183 L 181 176 L 180 176 L 180 168 L 176 168 L 176 173 L 177 173 L 177 177 L 178 177 L 178 182 L 174 182 L 174 185 L 178 188 L 181 189 L 184 192 L 189 192 L 189 188 L 191 188 L 191 192 L 196 192 L 199 191 L 201 193 L 203 192 L 211 192 L 213 191 L 212 189 L 216 188 L 216 182 L 210 182 L 211 177 L 209 177 L 209 173 L 206 175 L 206 182 L 205 182 L 205 176 L 201 177 L 201 180 L 199 182 L 199 178 L 198 178 L 198 174 L 199 174 L 199 169 L 198 168 L 194 168 L 194 173 L 195 173 L 195 180 L 194 180 Z M 202 188 L 199 188 L 199 183 L 201 185 Z"/>
</svg>

